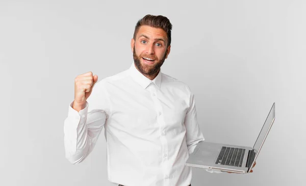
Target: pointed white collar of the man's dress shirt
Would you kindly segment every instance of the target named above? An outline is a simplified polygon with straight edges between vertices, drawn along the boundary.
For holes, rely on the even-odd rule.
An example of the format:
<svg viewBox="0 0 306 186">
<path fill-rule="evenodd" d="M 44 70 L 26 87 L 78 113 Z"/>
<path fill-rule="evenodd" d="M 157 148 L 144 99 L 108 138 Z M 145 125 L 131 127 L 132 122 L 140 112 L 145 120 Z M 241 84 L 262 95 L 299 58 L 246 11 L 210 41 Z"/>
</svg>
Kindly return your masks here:
<svg viewBox="0 0 306 186">
<path fill-rule="evenodd" d="M 131 67 L 130 67 L 130 74 L 131 76 L 134 78 L 134 80 L 142 87 L 142 88 L 147 88 L 147 86 L 150 85 L 150 83 L 154 83 L 158 88 L 161 87 L 161 80 L 162 80 L 162 72 L 161 69 L 158 72 L 157 76 L 151 80 L 149 78 L 147 78 L 146 76 L 144 76 L 141 72 L 139 72 L 137 70 L 137 68 L 135 67 L 134 62 L 132 63 Z"/>
</svg>

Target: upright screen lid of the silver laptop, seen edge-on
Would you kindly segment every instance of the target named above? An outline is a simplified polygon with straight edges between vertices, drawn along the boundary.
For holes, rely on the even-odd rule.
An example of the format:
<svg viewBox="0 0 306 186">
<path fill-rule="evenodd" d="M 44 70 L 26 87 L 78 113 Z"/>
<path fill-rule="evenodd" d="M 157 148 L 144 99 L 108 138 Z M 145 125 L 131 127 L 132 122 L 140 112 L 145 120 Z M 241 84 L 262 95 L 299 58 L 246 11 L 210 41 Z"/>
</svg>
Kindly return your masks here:
<svg viewBox="0 0 306 186">
<path fill-rule="evenodd" d="M 274 119 L 275 119 L 275 103 L 273 103 L 272 108 L 269 112 L 269 115 L 264 123 L 264 126 L 262 127 L 260 134 L 253 146 L 253 150 L 255 153 L 257 153 L 260 150 L 262 144 L 264 143 L 264 140 L 266 139 L 266 136 L 268 135 L 268 132 L 270 130 L 270 127 Z"/>
</svg>

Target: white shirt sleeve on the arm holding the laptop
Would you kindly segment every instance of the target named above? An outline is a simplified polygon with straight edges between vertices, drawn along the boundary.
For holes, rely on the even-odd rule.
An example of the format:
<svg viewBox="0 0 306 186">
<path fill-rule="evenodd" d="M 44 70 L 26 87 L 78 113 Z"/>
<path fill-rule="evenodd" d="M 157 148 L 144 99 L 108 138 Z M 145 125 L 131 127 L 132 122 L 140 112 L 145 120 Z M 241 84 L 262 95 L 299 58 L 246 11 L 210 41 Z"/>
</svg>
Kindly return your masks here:
<svg viewBox="0 0 306 186">
<path fill-rule="evenodd" d="M 189 102 L 190 102 L 190 107 L 186 113 L 184 124 L 186 127 L 186 143 L 187 143 L 188 153 L 191 154 L 195 149 L 196 145 L 200 141 L 204 141 L 205 139 L 197 122 L 195 98 L 192 92 L 190 92 Z"/>
</svg>

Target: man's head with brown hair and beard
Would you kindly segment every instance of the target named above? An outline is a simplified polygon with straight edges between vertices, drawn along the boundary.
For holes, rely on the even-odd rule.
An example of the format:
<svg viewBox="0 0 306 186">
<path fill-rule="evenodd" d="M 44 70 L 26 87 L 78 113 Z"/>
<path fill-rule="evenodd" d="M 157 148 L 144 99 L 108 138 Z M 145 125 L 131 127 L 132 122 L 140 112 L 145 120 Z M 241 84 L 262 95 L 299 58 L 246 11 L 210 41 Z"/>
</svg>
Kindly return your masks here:
<svg viewBox="0 0 306 186">
<path fill-rule="evenodd" d="M 153 79 L 170 52 L 172 24 L 164 16 L 146 15 L 140 19 L 131 40 L 138 70 Z"/>
</svg>

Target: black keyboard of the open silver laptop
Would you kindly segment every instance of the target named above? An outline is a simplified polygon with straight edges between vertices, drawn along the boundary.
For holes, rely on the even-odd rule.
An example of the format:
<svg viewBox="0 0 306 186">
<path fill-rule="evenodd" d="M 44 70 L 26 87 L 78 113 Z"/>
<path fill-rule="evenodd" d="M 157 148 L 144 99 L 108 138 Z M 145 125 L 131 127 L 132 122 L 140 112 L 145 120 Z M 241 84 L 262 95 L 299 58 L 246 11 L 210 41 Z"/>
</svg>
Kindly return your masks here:
<svg viewBox="0 0 306 186">
<path fill-rule="evenodd" d="M 245 149 L 223 146 L 216 164 L 241 167 Z"/>
</svg>

